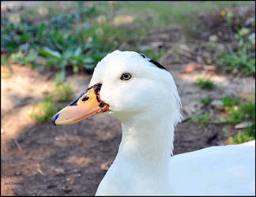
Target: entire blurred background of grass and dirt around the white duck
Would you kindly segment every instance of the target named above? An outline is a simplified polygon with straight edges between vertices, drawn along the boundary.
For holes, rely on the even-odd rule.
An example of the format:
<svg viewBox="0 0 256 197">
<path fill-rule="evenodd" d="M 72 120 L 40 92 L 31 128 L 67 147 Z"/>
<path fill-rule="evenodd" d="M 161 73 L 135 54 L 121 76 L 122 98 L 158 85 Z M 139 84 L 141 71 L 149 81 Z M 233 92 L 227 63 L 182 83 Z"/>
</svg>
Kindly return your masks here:
<svg viewBox="0 0 256 197">
<path fill-rule="evenodd" d="M 255 138 L 255 2 L 1 2 L 1 194 L 94 195 L 121 123 L 51 117 L 97 62 L 135 50 L 175 78 L 180 154 Z"/>
</svg>

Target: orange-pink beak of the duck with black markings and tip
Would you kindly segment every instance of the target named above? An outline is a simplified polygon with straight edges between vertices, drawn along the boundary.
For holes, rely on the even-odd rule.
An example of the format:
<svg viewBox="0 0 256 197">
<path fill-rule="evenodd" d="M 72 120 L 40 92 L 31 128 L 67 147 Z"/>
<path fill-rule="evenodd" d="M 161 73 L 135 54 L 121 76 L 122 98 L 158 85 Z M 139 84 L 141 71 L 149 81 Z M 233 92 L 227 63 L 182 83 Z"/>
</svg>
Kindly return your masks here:
<svg viewBox="0 0 256 197">
<path fill-rule="evenodd" d="M 70 125 L 90 117 L 95 113 L 109 110 L 109 106 L 100 99 L 102 83 L 88 87 L 77 99 L 70 103 L 52 118 L 54 125 Z"/>
</svg>

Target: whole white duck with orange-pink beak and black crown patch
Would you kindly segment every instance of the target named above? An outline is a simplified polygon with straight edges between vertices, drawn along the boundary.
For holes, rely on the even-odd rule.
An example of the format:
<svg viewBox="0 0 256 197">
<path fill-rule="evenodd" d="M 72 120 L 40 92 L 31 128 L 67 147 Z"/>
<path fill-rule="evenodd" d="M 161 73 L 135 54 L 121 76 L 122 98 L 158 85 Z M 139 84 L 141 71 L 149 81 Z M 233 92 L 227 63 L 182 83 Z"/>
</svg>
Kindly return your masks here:
<svg viewBox="0 0 256 197">
<path fill-rule="evenodd" d="M 100 61 L 87 91 L 56 113 L 55 125 L 107 111 L 122 142 L 96 195 L 255 195 L 255 141 L 171 157 L 179 94 L 171 73 L 132 51 Z"/>
</svg>

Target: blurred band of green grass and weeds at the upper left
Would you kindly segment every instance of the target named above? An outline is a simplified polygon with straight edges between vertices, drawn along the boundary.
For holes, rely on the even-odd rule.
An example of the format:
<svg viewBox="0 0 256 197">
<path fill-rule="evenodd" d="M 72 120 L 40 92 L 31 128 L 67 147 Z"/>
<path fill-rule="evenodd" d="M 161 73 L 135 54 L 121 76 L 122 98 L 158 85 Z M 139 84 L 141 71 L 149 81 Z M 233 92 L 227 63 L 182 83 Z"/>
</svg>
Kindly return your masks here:
<svg viewBox="0 0 256 197">
<path fill-rule="evenodd" d="M 64 9 L 47 2 L 31 9 L 21 6 L 18 12 L 8 9 L 9 17 L 2 18 L 1 24 L 2 65 L 52 66 L 59 70 L 57 79 L 64 80 L 66 66 L 70 65 L 73 72 L 92 70 L 104 55 L 122 43 L 128 43 L 125 50 L 137 50 L 157 61 L 164 53 L 139 48 L 150 31 L 168 25 L 190 30 L 198 12 L 213 13 L 216 9 L 221 11 L 227 7 L 252 4 L 73 2 Z M 225 60 L 221 62 L 226 63 Z"/>
</svg>

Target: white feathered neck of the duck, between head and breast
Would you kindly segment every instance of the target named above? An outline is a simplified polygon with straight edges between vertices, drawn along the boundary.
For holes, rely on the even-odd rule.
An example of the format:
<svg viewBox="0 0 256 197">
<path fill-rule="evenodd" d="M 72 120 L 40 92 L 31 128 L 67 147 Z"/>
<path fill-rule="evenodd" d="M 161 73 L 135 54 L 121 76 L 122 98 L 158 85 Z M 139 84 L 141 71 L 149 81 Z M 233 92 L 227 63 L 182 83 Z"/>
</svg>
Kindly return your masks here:
<svg viewBox="0 0 256 197">
<path fill-rule="evenodd" d="M 136 162 L 137 165 L 164 168 L 171 158 L 173 139 L 174 124 L 170 119 L 154 117 L 143 121 L 122 121 L 118 157 Z"/>
</svg>

